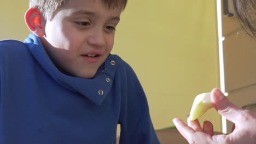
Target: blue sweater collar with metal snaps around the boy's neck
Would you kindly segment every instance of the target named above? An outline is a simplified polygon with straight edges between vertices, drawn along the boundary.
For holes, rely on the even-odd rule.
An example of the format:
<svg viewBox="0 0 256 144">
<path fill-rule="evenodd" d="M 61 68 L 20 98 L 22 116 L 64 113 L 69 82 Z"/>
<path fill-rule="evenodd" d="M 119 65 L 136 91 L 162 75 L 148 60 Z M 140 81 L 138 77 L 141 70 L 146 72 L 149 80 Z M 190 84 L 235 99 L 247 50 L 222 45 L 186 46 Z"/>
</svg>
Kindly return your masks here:
<svg viewBox="0 0 256 144">
<path fill-rule="evenodd" d="M 108 56 L 93 79 L 83 79 L 61 73 L 47 55 L 40 39 L 36 35 L 30 34 L 29 37 L 25 39 L 24 43 L 28 46 L 28 49 L 39 65 L 54 81 L 59 83 L 59 85 L 70 91 L 84 95 L 84 97 L 90 99 L 97 105 L 102 104 L 113 85 L 117 67 L 116 57 L 114 55 L 110 54 Z"/>
</svg>

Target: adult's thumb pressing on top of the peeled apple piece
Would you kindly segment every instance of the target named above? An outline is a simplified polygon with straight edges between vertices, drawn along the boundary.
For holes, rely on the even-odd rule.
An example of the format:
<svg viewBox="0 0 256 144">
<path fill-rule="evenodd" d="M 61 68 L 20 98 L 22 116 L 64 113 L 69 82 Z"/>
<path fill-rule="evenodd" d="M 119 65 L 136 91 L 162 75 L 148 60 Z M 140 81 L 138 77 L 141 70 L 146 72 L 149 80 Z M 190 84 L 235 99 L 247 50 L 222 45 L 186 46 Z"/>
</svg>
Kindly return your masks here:
<svg viewBox="0 0 256 144">
<path fill-rule="evenodd" d="M 244 110 L 232 104 L 225 95 L 218 89 L 214 88 L 211 92 L 211 100 L 213 101 L 215 109 L 226 119 L 233 123 L 239 123 L 240 117 Z"/>
</svg>

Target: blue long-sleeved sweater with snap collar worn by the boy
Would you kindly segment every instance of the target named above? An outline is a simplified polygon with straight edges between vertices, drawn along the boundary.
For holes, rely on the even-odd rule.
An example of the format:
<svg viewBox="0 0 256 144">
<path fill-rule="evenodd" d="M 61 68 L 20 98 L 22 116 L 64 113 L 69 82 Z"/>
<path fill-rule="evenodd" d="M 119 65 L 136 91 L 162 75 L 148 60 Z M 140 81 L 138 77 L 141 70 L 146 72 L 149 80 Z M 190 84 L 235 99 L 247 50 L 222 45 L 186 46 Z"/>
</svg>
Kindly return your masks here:
<svg viewBox="0 0 256 144">
<path fill-rule="evenodd" d="M 36 35 L 0 41 L 1 144 L 114 144 L 117 124 L 122 144 L 159 143 L 146 95 L 120 57 L 82 79 L 61 73 Z"/>
</svg>

